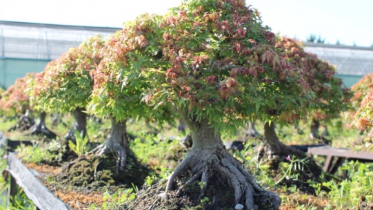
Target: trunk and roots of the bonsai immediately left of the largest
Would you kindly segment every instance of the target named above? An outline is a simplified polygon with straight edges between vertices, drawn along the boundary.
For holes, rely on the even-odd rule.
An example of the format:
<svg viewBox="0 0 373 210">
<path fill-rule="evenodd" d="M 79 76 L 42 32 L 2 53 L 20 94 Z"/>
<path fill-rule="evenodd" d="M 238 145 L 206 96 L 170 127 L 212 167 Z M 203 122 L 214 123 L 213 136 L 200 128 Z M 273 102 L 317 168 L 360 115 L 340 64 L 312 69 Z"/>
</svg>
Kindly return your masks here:
<svg viewBox="0 0 373 210">
<path fill-rule="evenodd" d="M 90 153 L 96 153 L 96 155 L 105 155 L 110 152 L 117 153 L 117 173 L 124 171 L 125 161 L 128 156 L 128 140 L 127 140 L 127 126 L 122 120 L 117 122 L 115 117 L 111 118 L 112 128 L 108 140 L 106 140 L 96 149 L 90 151 Z"/>
</svg>

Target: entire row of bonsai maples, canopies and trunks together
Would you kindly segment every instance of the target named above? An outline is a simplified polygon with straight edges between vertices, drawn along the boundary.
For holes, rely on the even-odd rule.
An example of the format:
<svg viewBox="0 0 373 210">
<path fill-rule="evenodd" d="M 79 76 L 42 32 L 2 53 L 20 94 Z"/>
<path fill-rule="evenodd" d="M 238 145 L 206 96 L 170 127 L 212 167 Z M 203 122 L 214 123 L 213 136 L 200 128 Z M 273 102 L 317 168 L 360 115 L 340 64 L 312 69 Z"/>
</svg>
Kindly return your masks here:
<svg viewBox="0 0 373 210">
<path fill-rule="evenodd" d="M 119 171 L 128 155 L 130 117 L 161 125 L 183 120 L 193 146 L 168 179 L 166 193 L 190 171 L 192 179 L 205 182 L 202 191 L 217 175 L 234 188 L 236 204 L 252 209 L 253 196 L 261 196 L 277 209 L 279 196 L 262 189 L 225 151 L 221 133 L 261 120 L 263 157 L 281 161 L 304 153 L 279 142 L 275 123 L 339 116 L 354 106 L 356 126 L 372 128 L 372 76 L 352 97 L 335 73 L 299 41 L 270 32 L 245 1 L 192 0 L 163 16 L 141 15 L 107 39 L 97 35 L 70 48 L 41 73 L 17 79 L 1 95 L 0 107 L 9 115 L 40 113 L 37 131 L 46 133 L 46 113 L 72 113 L 74 129 L 84 134 L 87 115 L 110 117 L 110 137 L 95 151 L 115 151 Z M 74 133 L 66 137 L 74 139 Z"/>
</svg>

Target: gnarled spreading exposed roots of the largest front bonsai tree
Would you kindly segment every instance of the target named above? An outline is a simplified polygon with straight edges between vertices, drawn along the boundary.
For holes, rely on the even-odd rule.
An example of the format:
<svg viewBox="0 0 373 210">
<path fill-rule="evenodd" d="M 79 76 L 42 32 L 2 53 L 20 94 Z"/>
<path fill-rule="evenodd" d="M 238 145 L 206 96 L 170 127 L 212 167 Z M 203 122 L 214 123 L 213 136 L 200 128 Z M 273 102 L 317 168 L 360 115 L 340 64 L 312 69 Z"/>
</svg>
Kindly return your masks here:
<svg viewBox="0 0 373 210">
<path fill-rule="evenodd" d="M 219 183 L 228 183 L 234 189 L 234 203 L 236 205 L 244 203 L 246 209 L 258 209 L 258 205 L 261 208 L 264 205 L 265 208 L 279 209 L 281 204 L 278 195 L 259 187 L 254 177 L 243 169 L 241 163 L 223 149 L 216 149 L 214 152 L 208 149 L 192 149 L 174 173 L 170 175 L 165 193 L 162 195 L 167 195 L 167 192 L 172 190 L 174 180 L 187 171 L 192 173 L 192 178 L 179 187 L 177 195 L 181 194 L 185 186 L 201 179 L 201 193 L 198 198 L 200 200 L 205 189 L 209 186 L 210 179 L 214 177 Z M 259 202 L 257 198 L 259 198 Z"/>
</svg>

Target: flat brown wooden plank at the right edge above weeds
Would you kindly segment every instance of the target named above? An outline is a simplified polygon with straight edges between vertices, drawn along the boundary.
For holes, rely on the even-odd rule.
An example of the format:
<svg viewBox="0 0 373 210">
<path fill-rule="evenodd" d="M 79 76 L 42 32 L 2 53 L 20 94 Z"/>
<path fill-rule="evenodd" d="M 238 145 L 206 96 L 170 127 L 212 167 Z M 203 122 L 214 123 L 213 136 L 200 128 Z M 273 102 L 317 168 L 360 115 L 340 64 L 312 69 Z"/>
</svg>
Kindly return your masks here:
<svg viewBox="0 0 373 210">
<path fill-rule="evenodd" d="M 373 153 L 367 151 L 352 151 L 350 149 L 335 149 L 331 146 L 325 147 L 314 147 L 308 149 L 308 154 L 310 155 L 333 155 L 335 157 L 341 158 L 356 158 L 364 160 L 373 160 Z"/>
</svg>

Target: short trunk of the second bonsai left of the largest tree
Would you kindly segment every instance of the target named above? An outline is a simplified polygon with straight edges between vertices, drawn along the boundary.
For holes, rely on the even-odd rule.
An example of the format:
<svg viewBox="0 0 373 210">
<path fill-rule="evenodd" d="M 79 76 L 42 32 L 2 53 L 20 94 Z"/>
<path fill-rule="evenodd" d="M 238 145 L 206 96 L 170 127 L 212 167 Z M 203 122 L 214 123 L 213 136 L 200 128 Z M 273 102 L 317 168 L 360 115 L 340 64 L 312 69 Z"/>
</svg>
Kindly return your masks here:
<svg viewBox="0 0 373 210">
<path fill-rule="evenodd" d="M 69 133 L 65 135 L 65 140 L 72 140 L 72 142 L 75 142 L 74 130 L 79 131 L 79 133 L 83 131 L 83 137 L 87 135 L 87 113 L 85 113 L 85 108 L 77 107 L 72 111 L 72 115 L 74 116 L 75 122 Z"/>
</svg>

